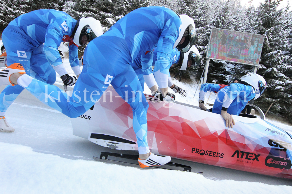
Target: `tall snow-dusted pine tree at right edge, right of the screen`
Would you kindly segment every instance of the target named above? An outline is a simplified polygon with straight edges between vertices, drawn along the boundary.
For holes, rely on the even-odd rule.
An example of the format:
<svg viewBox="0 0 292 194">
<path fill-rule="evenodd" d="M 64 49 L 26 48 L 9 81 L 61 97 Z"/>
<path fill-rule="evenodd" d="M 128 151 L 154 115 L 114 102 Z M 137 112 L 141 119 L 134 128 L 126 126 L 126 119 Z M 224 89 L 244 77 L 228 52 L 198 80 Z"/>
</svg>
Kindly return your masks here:
<svg viewBox="0 0 292 194">
<path fill-rule="evenodd" d="M 264 35 L 261 65 L 258 74 L 267 81 L 267 89 L 256 104 L 267 110 L 281 113 L 292 122 L 292 64 L 291 64 L 291 12 L 277 10 L 281 0 L 265 0 L 255 14 L 255 32 Z"/>
</svg>

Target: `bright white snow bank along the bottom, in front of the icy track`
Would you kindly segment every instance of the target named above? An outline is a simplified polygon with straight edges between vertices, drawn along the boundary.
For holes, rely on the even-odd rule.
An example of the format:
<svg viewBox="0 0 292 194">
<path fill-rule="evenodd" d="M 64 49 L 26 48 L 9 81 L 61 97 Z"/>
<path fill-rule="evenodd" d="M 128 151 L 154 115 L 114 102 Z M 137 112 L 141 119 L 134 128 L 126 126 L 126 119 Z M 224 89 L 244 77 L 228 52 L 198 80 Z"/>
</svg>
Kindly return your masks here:
<svg viewBox="0 0 292 194">
<path fill-rule="evenodd" d="M 192 172 L 71 160 L 0 142 L 0 190 L 6 193 L 290 193 L 291 186 L 204 178 Z"/>
</svg>

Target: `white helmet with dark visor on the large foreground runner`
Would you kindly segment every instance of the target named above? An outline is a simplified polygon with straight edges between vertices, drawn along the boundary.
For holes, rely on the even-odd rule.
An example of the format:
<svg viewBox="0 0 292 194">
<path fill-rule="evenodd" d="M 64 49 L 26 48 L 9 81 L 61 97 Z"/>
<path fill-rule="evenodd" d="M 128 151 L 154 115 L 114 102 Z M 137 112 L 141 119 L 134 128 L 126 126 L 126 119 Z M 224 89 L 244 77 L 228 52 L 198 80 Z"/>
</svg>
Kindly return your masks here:
<svg viewBox="0 0 292 194">
<path fill-rule="evenodd" d="M 180 34 L 178 36 L 178 39 L 175 41 L 173 48 L 176 47 L 180 52 L 186 53 L 194 45 L 194 42 L 197 38 L 196 28 L 194 20 L 192 18 L 187 15 L 179 16 L 182 21 L 182 25 L 180 29 Z M 185 41 L 182 44 L 178 45 L 183 37 L 185 37 Z"/>
</svg>

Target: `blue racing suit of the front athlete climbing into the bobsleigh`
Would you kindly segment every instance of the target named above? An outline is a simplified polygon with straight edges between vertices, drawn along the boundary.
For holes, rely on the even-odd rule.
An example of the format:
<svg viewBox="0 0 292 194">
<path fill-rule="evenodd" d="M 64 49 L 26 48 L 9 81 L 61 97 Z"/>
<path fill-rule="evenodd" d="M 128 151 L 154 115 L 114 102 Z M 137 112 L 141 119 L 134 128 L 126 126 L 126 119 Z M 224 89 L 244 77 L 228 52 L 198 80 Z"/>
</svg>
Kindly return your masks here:
<svg viewBox="0 0 292 194">
<path fill-rule="evenodd" d="M 241 83 L 232 83 L 230 86 L 215 83 L 204 83 L 201 85 L 199 100 L 204 101 L 207 91 L 217 93 L 212 113 L 221 114 L 222 107 L 228 108 L 230 115 L 239 115 L 248 101 L 256 97 L 256 92 L 251 86 Z"/>
</svg>

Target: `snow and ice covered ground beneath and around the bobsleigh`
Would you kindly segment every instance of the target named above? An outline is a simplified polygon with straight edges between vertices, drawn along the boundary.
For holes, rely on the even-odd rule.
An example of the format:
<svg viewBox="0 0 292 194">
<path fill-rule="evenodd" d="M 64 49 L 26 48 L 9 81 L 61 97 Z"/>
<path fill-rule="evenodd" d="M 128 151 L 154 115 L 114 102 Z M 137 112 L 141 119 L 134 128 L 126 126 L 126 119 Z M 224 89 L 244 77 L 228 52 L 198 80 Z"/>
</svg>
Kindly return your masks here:
<svg viewBox="0 0 292 194">
<path fill-rule="evenodd" d="M 69 60 L 64 65 L 70 70 Z M 72 72 L 70 72 L 72 71 Z M 57 76 L 59 77 L 59 76 Z M 175 81 L 188 97 L 177 100 L 197 105 L 197 84 Z M 61 80 L 56 86 L 62 88 Z M 4 86 L 0 86 L 0 92 Z M 71 90 L 72 87 L 69 87 Z M 145 92 L 150 93 L 145 87 Z M 169 90 L 172 91 L 172 90 Z M 208 97 L 208 95 L 206 95 Z M 215 99 L 211 95 L 209 102 Z M 72 135 L 69 118 L 39 102 L 24 90 L 6 112 L 13 133 L 0 133 L 0 193 L 291 193 L 292 181 L 173 159 L 192 172 L 148 169 L 93 161 L 101 147 Z M 277 121 L 275 125 L 291 130 Z M 281 124 L 281 126 L 280 126 Z M 124 154 L 132 153 L 123 151 Z"/>
</svg>

